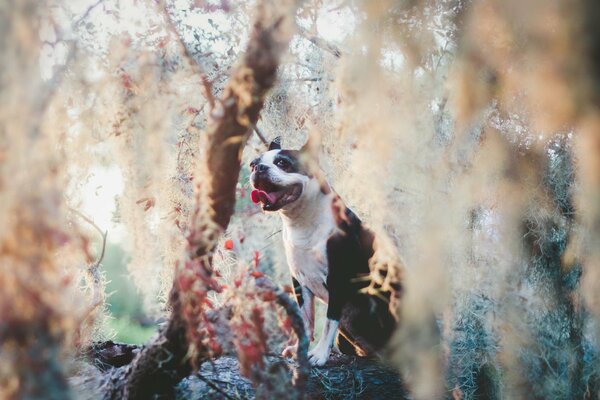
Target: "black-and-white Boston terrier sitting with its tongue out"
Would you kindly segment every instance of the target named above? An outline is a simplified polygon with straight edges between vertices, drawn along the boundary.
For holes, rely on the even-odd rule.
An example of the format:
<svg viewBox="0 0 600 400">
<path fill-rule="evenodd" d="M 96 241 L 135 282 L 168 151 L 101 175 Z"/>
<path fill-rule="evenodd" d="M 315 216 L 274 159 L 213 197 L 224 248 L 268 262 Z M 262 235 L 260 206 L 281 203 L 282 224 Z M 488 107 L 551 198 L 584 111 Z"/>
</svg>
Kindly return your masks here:
<svg viewBox="0 0 600 400">
<path fill-rule="evenodd" d="M 389 293 L 362 290 L 370 283 L 373 233 L 321 178 L 308 147 L 282 150 L 279 138 L 273 141 L 250 163 L 251 199 L 281 216 L 294 294 L 311 342 L 314 299 L 327 304 L 323 334 L 309 352 L 311 364 L 322 366 L 332 351 L 364 356 L 381 349 L 395 329 L 396 318 L 390 311 Z M 296 349 L 297 343 L 284 355 Z"/>
</svg>

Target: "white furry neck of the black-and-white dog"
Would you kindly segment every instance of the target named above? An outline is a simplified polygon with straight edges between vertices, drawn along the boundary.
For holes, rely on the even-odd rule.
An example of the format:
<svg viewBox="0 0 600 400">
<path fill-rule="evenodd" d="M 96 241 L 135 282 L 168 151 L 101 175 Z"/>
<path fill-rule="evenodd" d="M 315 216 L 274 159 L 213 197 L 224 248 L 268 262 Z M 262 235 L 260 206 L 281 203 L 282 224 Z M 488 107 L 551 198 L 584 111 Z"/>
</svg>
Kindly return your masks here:
<svg viewBox="0 0 600 400">
<path fill-rule="evenodd" d="M 297 201 L 280 210 L 284 228 L 300 235 L 305 232 L 307 236 L 315 231 L 331 230 L 332 198 L 331 193 L 323 193 L 316 180 L 311 180 Z"/>
</svg>

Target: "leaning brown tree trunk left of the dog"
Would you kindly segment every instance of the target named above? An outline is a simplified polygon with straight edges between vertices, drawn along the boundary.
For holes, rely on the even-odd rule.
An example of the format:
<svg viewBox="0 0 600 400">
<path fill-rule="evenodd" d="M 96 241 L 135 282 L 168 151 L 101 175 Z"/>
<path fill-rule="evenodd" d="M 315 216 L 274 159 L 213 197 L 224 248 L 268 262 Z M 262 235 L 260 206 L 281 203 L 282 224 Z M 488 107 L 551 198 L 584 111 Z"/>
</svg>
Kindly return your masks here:
<svg viewBox="0 0 600 400">
<path fill-rule="evenodd" d="M 185 259 L 179 263 L 169 304 L 171 317 L 158 337 L 133 363 L 111 377 L 109 398 L 150 398 L 169 394 L 194 366 L 219 352 L 207 312 L 210 291 L 219 291 L 212 257 L 234 212 L 240 154 L 256 124 L 265 96 L 293 29 L 296 6 L 260 2 L 248 47 L 215 102 L 206 132 L 205 182 L 196 188 Z"/>
</svg>

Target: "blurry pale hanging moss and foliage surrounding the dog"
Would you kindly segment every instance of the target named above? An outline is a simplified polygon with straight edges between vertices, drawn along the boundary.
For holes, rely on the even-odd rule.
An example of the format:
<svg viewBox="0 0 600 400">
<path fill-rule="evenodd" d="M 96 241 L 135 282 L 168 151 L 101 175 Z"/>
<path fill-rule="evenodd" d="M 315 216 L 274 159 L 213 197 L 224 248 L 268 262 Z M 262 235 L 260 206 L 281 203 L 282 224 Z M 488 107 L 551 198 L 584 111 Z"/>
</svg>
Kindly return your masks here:
<svg viewBox="0 0 600 400">
<path fill-rule="evenodd" d="M 294 36 L 276 84 L 255 93 L 251 21 L 281 7 L 0 5 L 0 397 L 80 395 L 65 376 L 78 349 L 128 325 L 118 305 L 164 319 L 174 292 L 192 360 L 237 354 L 258 396 L 279 393 L 294 378 L 266 354 L 291 335 L 274 306 L 289 276 L 246 165 L 261 135 L 290 148 L 311 135 L 377 232 L 373 282 L 403 282 L 386 358 L 414 398 L 595 398 L 600 7 L 309 1 L 282 28 Z M 207 202 L 238 176 L 215 178 L 229 164 L 210 147 L 231 107 L 227 145 L 247 141 L 228 159 L 237 201 Z M 86 200 L 102 169 L 122 181 L 106 226 Z M 92 251 L 105 230 L 127 271 L 110 271 L 114 246 Z M 127 304 L 138 291 L 143 305 Z"/>
</svg>

